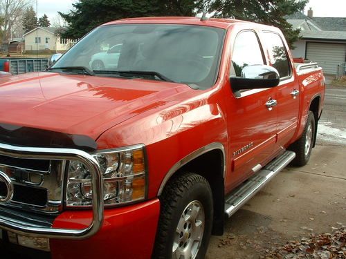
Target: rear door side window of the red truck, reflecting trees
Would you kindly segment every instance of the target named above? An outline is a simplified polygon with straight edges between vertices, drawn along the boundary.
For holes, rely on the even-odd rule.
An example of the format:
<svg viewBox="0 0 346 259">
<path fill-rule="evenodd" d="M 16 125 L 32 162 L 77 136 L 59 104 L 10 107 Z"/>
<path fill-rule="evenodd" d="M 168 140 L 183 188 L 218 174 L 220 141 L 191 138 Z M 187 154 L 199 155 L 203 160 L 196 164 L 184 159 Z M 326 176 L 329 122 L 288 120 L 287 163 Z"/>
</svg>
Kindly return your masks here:
<svg viewBox="0 0 346 259">
<path fill-rule="evenodd" d="M 277 69 L 281 78 L 289 77 L 291 75 L 289 58 L 281 37 L 274 32 L 264 32 L 263 36 L 266 46 L 268 46 L 271 66 Z"/>
</svg>

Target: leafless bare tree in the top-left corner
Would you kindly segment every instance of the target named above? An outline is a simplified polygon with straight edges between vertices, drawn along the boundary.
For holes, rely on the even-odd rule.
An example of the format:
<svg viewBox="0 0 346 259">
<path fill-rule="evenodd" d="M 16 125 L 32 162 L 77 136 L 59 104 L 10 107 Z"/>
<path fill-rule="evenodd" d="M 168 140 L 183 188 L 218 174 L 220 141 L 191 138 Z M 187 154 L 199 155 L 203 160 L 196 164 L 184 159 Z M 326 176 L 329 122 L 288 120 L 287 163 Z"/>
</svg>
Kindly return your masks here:
<svg viewBox="0 0 346 259">
<path fill-rule="evenodd" d="M 0 12 L 4 20 L 3 41 L 21 32 L 23 12 L 32 3 L 33 0 L 0 0 Z"/>
</svg>

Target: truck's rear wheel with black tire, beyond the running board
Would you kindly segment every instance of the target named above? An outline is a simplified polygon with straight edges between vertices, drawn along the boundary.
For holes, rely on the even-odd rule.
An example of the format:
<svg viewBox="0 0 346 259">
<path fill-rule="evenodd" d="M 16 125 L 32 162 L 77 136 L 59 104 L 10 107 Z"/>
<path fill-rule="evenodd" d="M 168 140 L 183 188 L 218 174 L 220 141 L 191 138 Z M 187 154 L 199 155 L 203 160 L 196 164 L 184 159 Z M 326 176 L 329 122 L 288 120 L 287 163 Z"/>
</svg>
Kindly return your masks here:
<svg viewBox="0 0 346 259">
<path fill-rule="evenodd" d="M 295 159 L 291 162 L 294 166 L 304 166 L 309 162 L 313 141 L 315 137 L 316 124 L 313 112 L 309 111 L 307 124 L 299 140 L 291 144 L 289 150 L 295 152 Z"/>
</svg>

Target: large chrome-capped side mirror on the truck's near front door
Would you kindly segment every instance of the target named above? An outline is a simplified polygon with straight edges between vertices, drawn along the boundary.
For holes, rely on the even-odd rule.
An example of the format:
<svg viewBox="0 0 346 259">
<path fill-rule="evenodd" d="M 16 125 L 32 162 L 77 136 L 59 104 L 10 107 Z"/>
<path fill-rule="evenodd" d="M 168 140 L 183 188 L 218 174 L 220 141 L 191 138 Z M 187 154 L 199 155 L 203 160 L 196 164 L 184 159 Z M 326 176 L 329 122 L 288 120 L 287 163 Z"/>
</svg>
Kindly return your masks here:
<svg viewBox="0 0 346 259">
<path fill-rule="evenodd" d="M 280 83 L 280 75 L 273 66 L 251 65 L 242 69 L 241 77 L 230 77 L 233 91 L 270 88 Z"/>
</svg>

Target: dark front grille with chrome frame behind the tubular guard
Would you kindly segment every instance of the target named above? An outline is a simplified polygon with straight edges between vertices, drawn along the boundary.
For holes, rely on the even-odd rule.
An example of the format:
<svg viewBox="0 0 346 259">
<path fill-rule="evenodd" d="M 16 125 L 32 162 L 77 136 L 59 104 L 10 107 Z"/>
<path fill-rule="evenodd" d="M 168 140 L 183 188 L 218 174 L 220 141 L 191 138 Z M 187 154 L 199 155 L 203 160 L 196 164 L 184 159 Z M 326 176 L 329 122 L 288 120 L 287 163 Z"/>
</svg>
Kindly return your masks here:
<svg viewBox="0 0 346 259">
<path fill-rule="evenodd" d="M 42 213 L 59 213 L 62 210 L 64 160 L 39 160 L 0 155 L 0 171 L 13 183 L 13 197 L 6 207 Z M 6 185 L 0 182 L 0 195 Z"/>
</svg>

